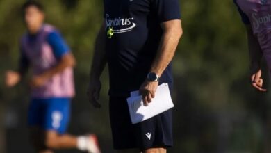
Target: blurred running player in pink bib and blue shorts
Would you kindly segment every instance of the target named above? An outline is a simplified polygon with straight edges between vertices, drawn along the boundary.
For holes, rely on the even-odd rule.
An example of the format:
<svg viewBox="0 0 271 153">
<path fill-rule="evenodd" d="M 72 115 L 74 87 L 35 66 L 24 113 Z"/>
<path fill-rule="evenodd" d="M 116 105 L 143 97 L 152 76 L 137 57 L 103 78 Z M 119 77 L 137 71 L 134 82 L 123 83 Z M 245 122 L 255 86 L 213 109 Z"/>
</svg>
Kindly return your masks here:
<svg viewBox="0 0 271 153">
<path fill-rule="evenodd" d="M 6 86 L 15 86 L 28 67 L 33 68 L 28 124 L 35 150 L 50 153 L 56 149 L 78 148 L 99 153 L 94 134 L 65 134 L 74 97 L 74 56 L 60 33 L 44 24 L 44 8 L 40 3 L 28 1 L 22 10 L 28 31 L 20 42 L 19 70 L 6 72 Z"/>
</svg>

